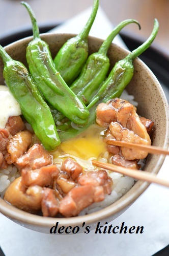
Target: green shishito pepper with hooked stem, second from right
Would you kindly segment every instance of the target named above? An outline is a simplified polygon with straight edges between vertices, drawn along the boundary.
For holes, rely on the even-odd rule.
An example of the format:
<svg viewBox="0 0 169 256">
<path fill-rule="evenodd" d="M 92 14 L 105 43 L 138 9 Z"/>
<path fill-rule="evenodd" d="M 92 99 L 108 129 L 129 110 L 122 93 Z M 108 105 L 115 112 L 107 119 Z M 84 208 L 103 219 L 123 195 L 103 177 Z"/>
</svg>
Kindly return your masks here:
<svg viewBox="0 0 169 256">
<path fill-rule="evenodd" d="M 112 40 L 126 25 L 131 23 L 136 23 L 140 29 L 139 23 L 134 19 L 126 19 L 119 23 L 119 25 L 117 25 L 117 27 L 115 27 L 104 40 L 99 51 L 92 53 L 88 57 L 79 77 L 70 86 L 70 89 L 85 105 L 89 104 L 108 73 L 110 61 L 107 56 L 107 51 Z M 57 111 L 51 110 L 51 112 L 55 123 L 58 123 L 64 119 L 64 115 L 58 113 Z"/>
</svg>

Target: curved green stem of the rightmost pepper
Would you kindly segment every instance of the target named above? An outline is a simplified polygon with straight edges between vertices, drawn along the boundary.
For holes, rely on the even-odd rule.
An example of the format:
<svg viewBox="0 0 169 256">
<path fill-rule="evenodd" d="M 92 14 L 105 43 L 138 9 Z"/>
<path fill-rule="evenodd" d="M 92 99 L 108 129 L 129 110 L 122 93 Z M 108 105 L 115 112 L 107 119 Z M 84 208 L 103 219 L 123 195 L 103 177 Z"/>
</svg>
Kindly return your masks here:
<svg viewBox="0 0 169 256">
<path fill-rule="evenodd" d="M 128 55 L 128 58 L 133 60 L 134 58 L 136 58 L 140 54 L 142 54 L 144 51 L 146 51 L 150 47 L 152 42 L 154 41 L 154 39 L 157 35 L 157 32 L 158 32 L 158 29 L 159 29 L 159 23 L 158 23 L 158 20 L 155 18 L 154 19 L 154 28 L 153 28 L 153 31 L 152 31 L 151 35 L 149 36 L 149 38 L 142 45 L 140 45 L 137 49 L 133 50 Z"/>
</svg>

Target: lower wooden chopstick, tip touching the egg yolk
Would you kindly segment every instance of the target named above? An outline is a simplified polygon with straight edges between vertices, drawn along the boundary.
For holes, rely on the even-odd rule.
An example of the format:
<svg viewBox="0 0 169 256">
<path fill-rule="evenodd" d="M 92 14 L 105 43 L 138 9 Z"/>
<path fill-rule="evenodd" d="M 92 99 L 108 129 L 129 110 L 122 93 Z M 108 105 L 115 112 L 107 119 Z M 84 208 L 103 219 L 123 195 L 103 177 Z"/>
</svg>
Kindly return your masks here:
<svg viewBox="0 0 169 256">
<path fill-rule="evenodd" d="M 149 183 L 156 183 L 156 184 L 159 184 L 162 186 L 169 187 L 169 181 L 160 179 L 157 177 L 156 174 L 146 172 L 145 170 L 134 170 L 134 169 L 130 169 L 130 168 L 121 167 L 121 166 L 118 166 L 115 164 L 102 163 L 97 160 L 92 160 L 92 163 L 98 167 L 102 167 L 102 168 L 111 170 L 113 172 L 132 177 L 137 180 L 143 180 L 143 181 L 147 181 Z"/>
</svg>

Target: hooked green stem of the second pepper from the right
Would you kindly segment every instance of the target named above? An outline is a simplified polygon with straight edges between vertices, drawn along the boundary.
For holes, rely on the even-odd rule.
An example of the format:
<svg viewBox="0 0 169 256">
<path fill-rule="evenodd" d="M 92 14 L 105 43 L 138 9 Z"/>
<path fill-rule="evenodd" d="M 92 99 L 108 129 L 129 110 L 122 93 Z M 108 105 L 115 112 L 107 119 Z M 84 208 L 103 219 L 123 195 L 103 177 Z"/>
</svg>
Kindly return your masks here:
<svg viewBox="0 0 169 256">
<path fill-rule="evenodd" d="M 119 23 L 115 28 L 114 30 L 112 30 L 112 32 L 109 34 L 109 36 L 105 39 L 105 41 L 103 42 L 103 44 L 101 45 L 98 53 L 101 53 L 101 54 L 104 54 L 106 55 L 107 54 L 107 51 L 108 51 L 108 48 L 110 47 L 110 44 L 112 42 L 112 40 L 115 38 L 115 36 L 117 34 L 119 34 L 119 32 L 128 24 L 130 23 L 136 23 L 140 29 L 140 25 L 139 23 L 137 22 L 137 20 L 135 19 L 126 19 L 126 20 L 123 20 L 123 22 Z"/>
</svg>

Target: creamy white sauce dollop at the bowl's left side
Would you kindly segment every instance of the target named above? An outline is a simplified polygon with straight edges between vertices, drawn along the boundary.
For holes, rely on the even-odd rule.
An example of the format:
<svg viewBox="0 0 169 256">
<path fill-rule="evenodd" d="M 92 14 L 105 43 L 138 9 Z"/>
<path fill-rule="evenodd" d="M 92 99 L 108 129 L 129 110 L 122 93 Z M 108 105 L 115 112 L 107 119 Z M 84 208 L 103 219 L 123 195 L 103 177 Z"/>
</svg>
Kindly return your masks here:
<svg viewBox="0 0 169 256">
<path fill-rule="evenodd" d="M 4 129 L 10 116 L 20 116 L 19 103 L 7 86 L 0 86 L 0 128 Z"/>
</svg>

